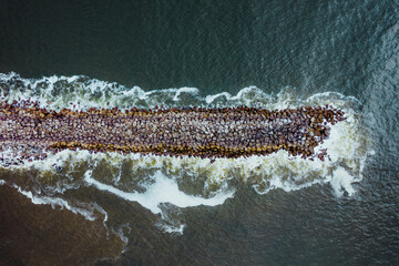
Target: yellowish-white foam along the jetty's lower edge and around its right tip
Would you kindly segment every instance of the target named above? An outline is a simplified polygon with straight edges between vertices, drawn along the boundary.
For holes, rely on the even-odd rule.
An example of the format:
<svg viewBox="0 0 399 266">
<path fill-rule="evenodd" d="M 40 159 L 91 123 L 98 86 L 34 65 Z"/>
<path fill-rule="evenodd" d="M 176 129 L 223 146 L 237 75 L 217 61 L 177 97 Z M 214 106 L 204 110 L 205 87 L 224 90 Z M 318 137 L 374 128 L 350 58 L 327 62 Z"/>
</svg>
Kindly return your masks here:
<svg viewBox="0 0 399 266">
<path fill-rule="evenodd" d="M 350 114 L 350 113 L 349 113 Z M 207 176 L 204 190 L 215 191 L 229 178 L 241 178 L 244 182 L 255 183 L 258 193 L 266 193 L 269 190 L 283 188 L 294 191 L 315 183 L 329 182 L 330 174 L 339 164 L 345 164 L 350 170 L 351 182 L 361 180 L 361 165 L 365 161 L 366 149 L 362 145 L 364 136 L 356 122 L 348 119 L 331 126 L 330 139 L 326 140 L 317 149 L 327 149 L 328 156 L 324 162 L 319 158 L 303 160 L 299 156 L 290 156 L 285 151 L 269 154 L 267 156 L 253 155 L 244 158 L 216 158 L 211 164 L 208 158 L 183 156 L 182 158 L 140 154 L 121 155 L 119 153 L 90 154 L 88 151 L 62 151 L 55 155 L 49 155 L 44 161 L 25 162 L 23 165 L 11 166 L 14 168 L 34 167 L 41 173 L 50 172 L 57 174 L 57 165 L 64 167 L 69 162 L 73 172 L 73 165 L 80 162 L 90 162 L 95 165 L 99 162 L 108 162 L 116 167 L 115 176 L 110 181 L 117 185 L 121 180 L 121 165 L 125 160 L 132 161 L 131 174 L 136 176 L 141 171 L 162 171 L 170 176 L 180 176 L 186 173 L 188 176 Z M 74 174 L 75 175 L 75 174 Z M 63 193 L 66 190 L 78 188 L 80 183 L 60 182 L 53 187 L 54 193 Z M 149 204 L 146 204 L 149 205 Z"/>
</svg>

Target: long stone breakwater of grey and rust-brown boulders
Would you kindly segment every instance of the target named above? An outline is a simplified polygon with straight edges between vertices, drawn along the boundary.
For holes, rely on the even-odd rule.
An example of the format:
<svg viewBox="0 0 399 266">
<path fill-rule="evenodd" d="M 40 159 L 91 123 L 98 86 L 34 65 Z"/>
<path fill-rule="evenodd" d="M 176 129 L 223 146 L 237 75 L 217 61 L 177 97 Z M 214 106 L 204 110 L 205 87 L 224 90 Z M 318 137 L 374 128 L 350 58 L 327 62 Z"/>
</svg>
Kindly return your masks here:
<svg viewBox="0 0 399 266">
<path fill-rule="evenodd" d="M 315 147 L 329 136 L 329 125 L 344 115 L 329 105 L 54 111 L 30 100 L 0 101 L 0 152 L 21 151 L 21 158 L 43 160 L 42 151 L 81 149 L 213 161 L 285 150 L 305 158 L 315 156 Z"/>
</svg>

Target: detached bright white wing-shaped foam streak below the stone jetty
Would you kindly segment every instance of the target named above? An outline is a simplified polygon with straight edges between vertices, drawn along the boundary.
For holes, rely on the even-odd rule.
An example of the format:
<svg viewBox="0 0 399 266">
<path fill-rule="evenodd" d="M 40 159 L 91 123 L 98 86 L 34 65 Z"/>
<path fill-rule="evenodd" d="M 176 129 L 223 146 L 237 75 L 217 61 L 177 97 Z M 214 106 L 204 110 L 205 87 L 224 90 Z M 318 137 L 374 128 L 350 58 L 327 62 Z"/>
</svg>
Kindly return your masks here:
<svg viewBox="0 0 399 266">
<path fill-rule="evenodd" d="M 92 176 L 92 171 L 89 170 L 84 174 L 84 181 L 89 185 L 95 186 L 100 191 L 110 192 L 121 198 L 131 202 L 137 202 L 145 208 L 149 208 L 154 214 L 160 214 L 161 203 L 171 203 L 177 207 L 193 207 L 198 205 L 216 206 L 223 204 L 227 198 L 233 197 L 234 192 L 219 192 L 212 198 L 204 198 L 200 196 L 186 195 L 178 190 L 177 183 L 171 178 L 167 178 L 162 172 L 155 173 L 155 183 L 147 186 L 145 193 L 124 192 L 114 186 L 103 184 Z"/>
</svg>

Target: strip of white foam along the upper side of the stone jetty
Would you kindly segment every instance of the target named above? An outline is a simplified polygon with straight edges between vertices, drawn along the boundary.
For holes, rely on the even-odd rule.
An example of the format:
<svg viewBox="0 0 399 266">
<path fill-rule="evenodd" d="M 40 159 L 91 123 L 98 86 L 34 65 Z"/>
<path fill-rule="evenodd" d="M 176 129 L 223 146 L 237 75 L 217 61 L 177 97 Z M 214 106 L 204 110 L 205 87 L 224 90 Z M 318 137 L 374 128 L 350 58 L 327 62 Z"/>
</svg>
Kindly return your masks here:
<svg viewBox="0 0 399 266">
<path fill-rule="evenodd" d="M 167 100 L 170 100 L 170 102 L 173 101 L 178 105 L 182 101 L 180 98 L 182 93 L 186 93 L 187 96 L 204 106 L 214 105 L 217 99 L 224 98 L 225 105 L 244 104 L 250 106 L 257 105 L 266 109 L 295 108 L 307 103 L 317 105 L 319 100 L 324 100 L 325 102 L 327 100 L 328 102 L 328 98 L 334 98 L 334 101 L 340 102 L 349 99 L 339 93 L 324 92 L 303 101 L 295 95 L 295 90 L 293 88 L 285 88 L 277 94 L 268 94 L 257 86 L 244 88 L 236 95 L 232 95 L 228 92 L 221 92 L 203 98 L 197 88 L 184 86 L 180 89 L 144 91 L 140 86 L 125 88 L 115 82 L 89 79 L 84 75 L 53 75 L 34 80 L 23 79 L 14 72 L 0 74 L 0 82 L 12 83 L 12 81 L 20 81 L 23 86 L 12 88 L 7 96 L 9 101 L 31 99 L 38 101 L 42 108 L 51 109 L 73 109 L 73 105 L 75 105 L 74 109 L 78 110 L 93 106 L 119 106 L 121 109 L 123 109 L 123 106 L 152 108 L 154 105 L 161 105 Z"/>
</svg>

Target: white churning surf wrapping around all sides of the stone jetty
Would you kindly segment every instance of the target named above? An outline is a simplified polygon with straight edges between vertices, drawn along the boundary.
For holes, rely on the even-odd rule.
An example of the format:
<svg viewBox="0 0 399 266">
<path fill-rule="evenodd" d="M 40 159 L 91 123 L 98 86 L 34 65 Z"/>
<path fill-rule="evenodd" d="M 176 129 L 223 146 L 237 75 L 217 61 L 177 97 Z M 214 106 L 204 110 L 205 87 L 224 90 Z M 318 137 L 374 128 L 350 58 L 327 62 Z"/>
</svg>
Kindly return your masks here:
<svg viewBox="0 0 399 266">
<path fill-rule="evenodd" d="M 293 88 L 268 94 L 256 86 L 248 86 L 236 95 L 223 92 L 204 96 L 196 88 L 146 92 L 139 86 L 125 88 L 83 75 L 23 79 L 12 72 L 0 74 L 0 96 L 9 102 L 30 99 L 39 102 L 41 108 L 53 110 L 88 110 L 93 106 L 123 110 L 156 105 L 247 105 L 275 110 L 328 104 L 346 114 L 345 121 L 330 125 L 329 139 L 315 150 L 317 154 L 327 149 L 325 161 L 300 158 L 285 151 L 267 156 L 216 158 L 214 163 L 208 158 L 188 156 L 176 158 L 62 151 L 49 154 L 44 161 L 27 161 L 23 165 L 3 165 L 0 168 L 0 177 L 4 180 L 1 184 L 12 184 L 33 203 L 65 207 L 89 219 L 100 212 L 105 215 L 104 223 L 108 214 L 102 206 L 85 203 L 70 194 L 81 187 L 95 187 L 124 201 L 137 202 L 160 215 L 160 228 L 182 233 L 184 219 L 181 215 L 171 215 L 171 212 L 178 214 L 181 208 L 223 204 L 234 196 L 241 184 L 249 184 L 257 193 L 264 194 L 276 188 L 289 192 L 316 183 L 329 183 L 337 196 L 350 196 L 356 193 L 352 183 L 361 181 L 365 161 L 372 153 L 362 129 L 360 103 L 352 96 L 336 92 L 303 99 Z M 12 160 L 7 152 L 0 156 L 3 161 Z"/>
</svg>

